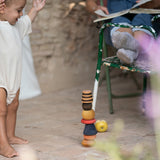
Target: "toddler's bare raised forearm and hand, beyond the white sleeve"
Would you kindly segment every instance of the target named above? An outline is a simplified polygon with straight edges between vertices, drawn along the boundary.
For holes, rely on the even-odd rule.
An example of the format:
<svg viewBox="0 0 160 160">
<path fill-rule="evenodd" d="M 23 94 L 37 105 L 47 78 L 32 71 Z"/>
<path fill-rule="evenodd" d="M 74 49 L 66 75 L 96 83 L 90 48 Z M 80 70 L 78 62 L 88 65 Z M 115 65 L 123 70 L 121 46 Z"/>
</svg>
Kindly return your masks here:
<svg viewBox="0 0 160 160">
<path fill-rule="evenodd" d="M 37 16 L 38 12 L 43 9 L 45 6 L 46 0 L 33 0 L 32 8 L 28 13 L 31 22 L 34 21 L 35 17 Z"/>
</svg>

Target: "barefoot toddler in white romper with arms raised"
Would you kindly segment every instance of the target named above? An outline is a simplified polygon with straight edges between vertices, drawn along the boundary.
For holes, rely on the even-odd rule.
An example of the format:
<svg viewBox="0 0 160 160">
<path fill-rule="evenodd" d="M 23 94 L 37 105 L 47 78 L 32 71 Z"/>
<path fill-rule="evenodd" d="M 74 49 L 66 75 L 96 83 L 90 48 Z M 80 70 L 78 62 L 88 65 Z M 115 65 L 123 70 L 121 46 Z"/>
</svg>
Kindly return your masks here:
<svg viewBox="0 0 160 160">
<path fill-rule="evenodd" d="M 8 158 L 18 156 L 11 144 L 28 143 L 15 136 L 22 39 L 31 32 L 31 22 L 45 6 L 45 1 L 33 0 L 31 10 L 23 17 L 26 0 L 5 0 L 5 5 L 0 5 L 0 155 Z"/>
</svg>

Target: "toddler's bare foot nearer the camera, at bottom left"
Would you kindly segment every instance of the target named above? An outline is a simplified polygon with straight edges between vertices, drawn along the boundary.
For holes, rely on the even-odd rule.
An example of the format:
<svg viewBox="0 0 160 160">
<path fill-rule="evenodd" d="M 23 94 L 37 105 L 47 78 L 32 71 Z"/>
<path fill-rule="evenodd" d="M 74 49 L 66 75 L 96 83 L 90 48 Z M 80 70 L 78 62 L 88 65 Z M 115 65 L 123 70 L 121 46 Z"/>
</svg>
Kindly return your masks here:
<svg viewBox="0 0 160 160">
<path fill-rule="evenodd" d="M 7 158 L 12 158 L 18 156 L 18 153 L 10 145 L 3 145 L 0 147 L 0 155 Z"/>
</svg>

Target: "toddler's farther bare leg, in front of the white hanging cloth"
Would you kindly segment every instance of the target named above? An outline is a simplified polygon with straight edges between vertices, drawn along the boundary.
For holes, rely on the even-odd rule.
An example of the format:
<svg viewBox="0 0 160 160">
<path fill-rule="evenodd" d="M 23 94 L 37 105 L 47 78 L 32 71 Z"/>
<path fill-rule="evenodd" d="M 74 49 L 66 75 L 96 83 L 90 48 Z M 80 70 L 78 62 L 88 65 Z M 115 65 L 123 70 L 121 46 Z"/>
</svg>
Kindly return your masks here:
<svg viewBox="0 0 160 160">
<path fill-rule="evenodd" d="M 27 140 L 15 136 L 17 110 L 19 105 L 19 91 L 16 94 L 15 99 L 8 105 L 7 113 L 7 136 L 10 144 L 26 144 Z"/>
</svg>

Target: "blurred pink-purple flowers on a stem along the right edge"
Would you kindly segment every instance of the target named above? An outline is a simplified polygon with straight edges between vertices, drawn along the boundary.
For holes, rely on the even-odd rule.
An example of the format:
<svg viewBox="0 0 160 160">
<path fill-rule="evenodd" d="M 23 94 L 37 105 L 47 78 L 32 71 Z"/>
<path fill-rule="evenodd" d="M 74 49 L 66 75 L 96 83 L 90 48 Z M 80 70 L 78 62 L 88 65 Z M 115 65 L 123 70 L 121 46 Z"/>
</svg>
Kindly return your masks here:
<svg viewBox="0 0 160 160">
<path fill-rule="evenodd" d="M 147 106 L 146 113 L 153 120 L 158 159 L 160 159 L 160 37 L 157 39 L 145 37 L 141 40 L 141 45 L 151 63 L 151 96 L 147 97 L 150 106 Z"/>
</svg>

